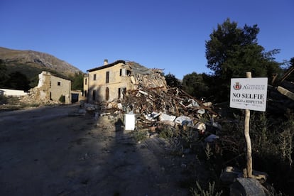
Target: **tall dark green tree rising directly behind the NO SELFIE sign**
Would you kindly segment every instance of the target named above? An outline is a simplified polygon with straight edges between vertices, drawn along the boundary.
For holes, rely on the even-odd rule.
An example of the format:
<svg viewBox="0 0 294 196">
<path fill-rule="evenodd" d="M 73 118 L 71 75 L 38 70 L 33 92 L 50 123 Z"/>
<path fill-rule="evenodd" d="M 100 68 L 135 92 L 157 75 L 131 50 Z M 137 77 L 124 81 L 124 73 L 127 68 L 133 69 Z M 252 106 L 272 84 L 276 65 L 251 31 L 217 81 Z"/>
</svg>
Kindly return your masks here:
<svg viewBox="0 0 294 196">
<path fill-rule="evenodd" d="M 249 71 L 253 77 L 272 77 L 281 72 L 279 63 L 273 58 L 279 50 L 266 52 L 257 43 L 258 33 L 257 25 L 239 28 L 227 18 L 210 34 L 210 40 L 205 43 L 205 55 L 207 67 L 217 77 L 214 88 L 218 89 L 219 101 L 227 101 L 232 77 L 245 77 Z"/>
</svg>

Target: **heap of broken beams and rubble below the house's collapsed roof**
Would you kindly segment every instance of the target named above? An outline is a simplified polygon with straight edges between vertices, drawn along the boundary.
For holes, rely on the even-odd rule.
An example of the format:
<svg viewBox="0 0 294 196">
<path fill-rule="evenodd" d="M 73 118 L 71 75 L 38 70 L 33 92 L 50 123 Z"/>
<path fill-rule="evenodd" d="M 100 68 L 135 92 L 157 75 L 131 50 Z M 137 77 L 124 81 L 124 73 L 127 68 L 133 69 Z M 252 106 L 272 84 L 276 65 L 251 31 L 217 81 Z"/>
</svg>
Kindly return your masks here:
<svg viewBox="0 0 294 196">
<path fill-rule="evenodd" d="M 102 105 L 101 114 L 136 114 L 136 129 L 161 125 L 190 127 L 204 133 L 219 115 L 211 102 L 201 102 L 178 88 L 153 87 L 126 92 L 124 99 Z"/>
</svg>

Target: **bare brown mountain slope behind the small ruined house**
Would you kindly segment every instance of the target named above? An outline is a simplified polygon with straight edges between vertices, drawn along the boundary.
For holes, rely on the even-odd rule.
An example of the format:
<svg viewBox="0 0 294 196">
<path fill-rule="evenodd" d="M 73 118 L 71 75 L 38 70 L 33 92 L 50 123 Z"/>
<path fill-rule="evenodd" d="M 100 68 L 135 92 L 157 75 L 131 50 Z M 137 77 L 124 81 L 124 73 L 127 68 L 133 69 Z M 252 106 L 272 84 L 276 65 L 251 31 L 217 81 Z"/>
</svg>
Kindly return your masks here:
<svg viewBox="0 0 294 196">
<path fill-rule="evenodd" d="M 6 65 L 7 73 L 21 72 L 29 80 L 36 80 L 42 71 L 49 71 L 60 77 L 70 77 L 81 72 L 77 67 L 53 55 L 32 50 L 12 50 L 0 47 L 0 60 Z"/>
</svg>

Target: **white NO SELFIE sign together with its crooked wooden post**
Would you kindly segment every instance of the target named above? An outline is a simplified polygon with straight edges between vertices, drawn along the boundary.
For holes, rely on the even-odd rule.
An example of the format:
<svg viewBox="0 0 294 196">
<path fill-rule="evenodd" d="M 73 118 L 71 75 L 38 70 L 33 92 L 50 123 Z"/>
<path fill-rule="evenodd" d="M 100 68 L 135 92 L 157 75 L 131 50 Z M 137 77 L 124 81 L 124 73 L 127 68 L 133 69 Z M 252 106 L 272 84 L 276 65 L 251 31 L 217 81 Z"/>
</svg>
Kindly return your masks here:
<svg viewBox="0 0 294 196">
<path fill-rule="evenodd" d="M 246 78 L 232 78 L 229 107 L 245 109 L 244 136 L 246 141 L 246 176 L 252 178 L 251 138 L 249 134 L 250 109 L 266 111 L 267 77 L 251 78 L 251 72 L 246 72 Z"/>
</svg>

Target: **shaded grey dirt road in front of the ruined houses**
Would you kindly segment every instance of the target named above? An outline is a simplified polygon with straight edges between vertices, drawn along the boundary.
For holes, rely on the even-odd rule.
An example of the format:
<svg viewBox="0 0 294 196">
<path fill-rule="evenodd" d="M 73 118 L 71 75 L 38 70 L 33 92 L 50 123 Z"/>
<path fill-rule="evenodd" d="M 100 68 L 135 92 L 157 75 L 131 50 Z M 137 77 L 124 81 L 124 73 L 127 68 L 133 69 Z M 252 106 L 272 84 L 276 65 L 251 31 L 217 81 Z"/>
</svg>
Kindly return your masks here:
<svg viewBox="0 0 294 196">
<path fill-rule="evenodd" d="M 0 113 L 0 195 L 187 195 L 168 143 L 136 143 L 78 105 Z"/>
</svg>

